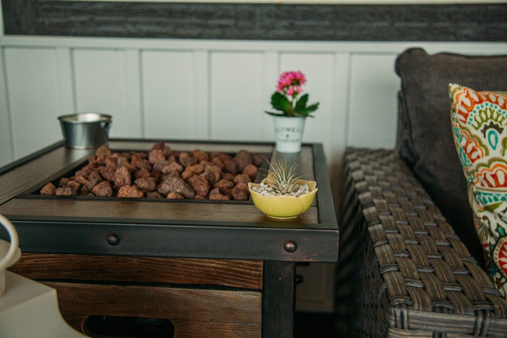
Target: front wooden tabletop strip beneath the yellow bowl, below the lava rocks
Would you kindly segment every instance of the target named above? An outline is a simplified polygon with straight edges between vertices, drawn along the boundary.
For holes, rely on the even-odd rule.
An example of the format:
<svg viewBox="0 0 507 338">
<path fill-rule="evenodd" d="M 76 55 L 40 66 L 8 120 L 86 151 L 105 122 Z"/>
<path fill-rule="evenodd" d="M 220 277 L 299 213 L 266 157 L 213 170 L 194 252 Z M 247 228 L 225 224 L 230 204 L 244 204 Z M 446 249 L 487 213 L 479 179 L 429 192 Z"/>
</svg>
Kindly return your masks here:
<svg viewBox="0 0 507 338">
<path fill-rule="evenodd" d="M 15 198 L 0 206 L 0 213 L 6 216 L 42 216 L 48 220 L 72 221 L 86 218 L 88 221 L 144 222 L 165 221 L 215 221 L 234 222 L 245 226 L 266 220 L 266 216 L 253 204 L 193 203 L 179 201 L 111 201 L 103 199 L 30 199 Z M 319 227 L 317 207 L 310 209 L 298 219 L 301 224 Z M 246 224 L 248 223 L 248 224 Z"/>
</svg>

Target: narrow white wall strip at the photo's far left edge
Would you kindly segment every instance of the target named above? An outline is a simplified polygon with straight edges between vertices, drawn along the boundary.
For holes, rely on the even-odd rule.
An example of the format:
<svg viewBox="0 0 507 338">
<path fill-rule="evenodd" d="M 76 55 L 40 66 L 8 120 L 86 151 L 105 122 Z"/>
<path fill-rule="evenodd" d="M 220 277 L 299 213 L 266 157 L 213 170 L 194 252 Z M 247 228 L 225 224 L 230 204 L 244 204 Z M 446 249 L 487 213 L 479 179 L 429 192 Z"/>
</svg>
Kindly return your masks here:
<svg viewBox="0 0 507 338">
<path fill-rule="evenodd" d="M 4 50 L 0 49 L 0 167 L 14 160 L 5 75 Z"/>
</svg>

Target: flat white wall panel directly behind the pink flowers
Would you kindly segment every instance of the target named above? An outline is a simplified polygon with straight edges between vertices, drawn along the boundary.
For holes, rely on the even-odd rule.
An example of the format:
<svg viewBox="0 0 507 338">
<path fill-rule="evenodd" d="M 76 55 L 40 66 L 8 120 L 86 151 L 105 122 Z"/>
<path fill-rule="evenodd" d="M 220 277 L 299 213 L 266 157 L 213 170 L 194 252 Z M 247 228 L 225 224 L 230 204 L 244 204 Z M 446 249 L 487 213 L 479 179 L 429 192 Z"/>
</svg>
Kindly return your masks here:
<svg viewBox="0 0 507 338">
<path fill-rule="evenodd" d="M 307 118 L 303 134 L 304 142 L 322 142 L 325 154 L 332 153 L 332 117 L 335 95 L 335 60 L 332 53 L 282 53 L 280 70 L 301 70 L 307 83 L 304 92 L 309 94 L 308 104 L 320 102 L 314 119 Z"/>
</svg>

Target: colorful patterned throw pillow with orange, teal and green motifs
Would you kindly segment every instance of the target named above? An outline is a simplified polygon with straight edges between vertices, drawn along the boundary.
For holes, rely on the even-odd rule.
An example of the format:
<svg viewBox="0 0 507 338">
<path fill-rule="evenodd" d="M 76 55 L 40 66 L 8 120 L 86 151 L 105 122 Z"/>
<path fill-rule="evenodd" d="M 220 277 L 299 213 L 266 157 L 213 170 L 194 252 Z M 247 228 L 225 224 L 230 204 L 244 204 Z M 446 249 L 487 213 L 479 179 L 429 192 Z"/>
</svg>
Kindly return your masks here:
<svg viewBox="0 0 507 338">
<path fill-rule="evenodd" d="M 454 143 L 488 275 L 507 298 L 507 92 L 449 85 Z"/>
</svg>

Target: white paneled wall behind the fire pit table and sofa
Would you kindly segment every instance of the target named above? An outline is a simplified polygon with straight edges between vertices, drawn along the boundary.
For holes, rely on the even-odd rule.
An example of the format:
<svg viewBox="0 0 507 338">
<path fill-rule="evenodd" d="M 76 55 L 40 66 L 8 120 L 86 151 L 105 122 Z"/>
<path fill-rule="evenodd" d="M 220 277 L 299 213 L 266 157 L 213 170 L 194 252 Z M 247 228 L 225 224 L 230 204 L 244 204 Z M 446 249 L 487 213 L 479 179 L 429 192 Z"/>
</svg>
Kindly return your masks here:
<svg viewBox="0 0 507 338">
<path fill-rule="evenodd" d="M 76 111 L 113 115 L 113 137 L 271 141 L 263 111 L 294 69 L 320 102 L 304 140 L 322 142 L 337 172 L 347 145 L 394 146 L 394 60 L 412 46 L 507 53 L 505 43 L 0 37 L 0 165 L 60 139 L 56 117 Z"/>
</svg>

